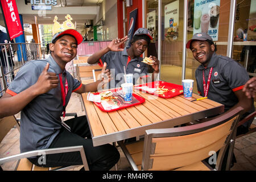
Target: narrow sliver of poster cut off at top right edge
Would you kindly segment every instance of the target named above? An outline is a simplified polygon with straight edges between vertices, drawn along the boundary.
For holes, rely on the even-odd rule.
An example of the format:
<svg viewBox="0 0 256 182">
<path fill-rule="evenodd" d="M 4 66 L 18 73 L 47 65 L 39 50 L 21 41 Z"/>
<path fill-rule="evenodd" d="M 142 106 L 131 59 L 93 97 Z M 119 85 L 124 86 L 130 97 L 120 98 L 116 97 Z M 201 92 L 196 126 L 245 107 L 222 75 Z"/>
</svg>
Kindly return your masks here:
<svg viewBox="0 0 256 182">
<path fill-rule="evenodd" d="M 256 41 L 256 1 L 251 1 L 247 40 Z"/>
</svg>

